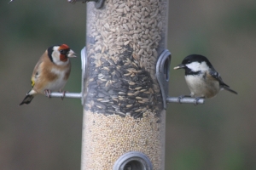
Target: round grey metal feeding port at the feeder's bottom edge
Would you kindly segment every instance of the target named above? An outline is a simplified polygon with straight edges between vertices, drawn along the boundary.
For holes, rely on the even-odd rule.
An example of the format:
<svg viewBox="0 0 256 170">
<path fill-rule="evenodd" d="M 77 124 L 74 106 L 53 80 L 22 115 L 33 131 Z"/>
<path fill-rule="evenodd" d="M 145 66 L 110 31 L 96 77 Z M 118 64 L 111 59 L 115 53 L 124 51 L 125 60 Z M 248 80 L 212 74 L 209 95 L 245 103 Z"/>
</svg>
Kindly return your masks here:
<svg viewBox="0 0 256 170">
<path fill-rule="evenodd" d="M 153 170 L 153 166 L 148 156 L 139 151 L 131 151 L 119 157 L 113 170 Z"/>
</svg>

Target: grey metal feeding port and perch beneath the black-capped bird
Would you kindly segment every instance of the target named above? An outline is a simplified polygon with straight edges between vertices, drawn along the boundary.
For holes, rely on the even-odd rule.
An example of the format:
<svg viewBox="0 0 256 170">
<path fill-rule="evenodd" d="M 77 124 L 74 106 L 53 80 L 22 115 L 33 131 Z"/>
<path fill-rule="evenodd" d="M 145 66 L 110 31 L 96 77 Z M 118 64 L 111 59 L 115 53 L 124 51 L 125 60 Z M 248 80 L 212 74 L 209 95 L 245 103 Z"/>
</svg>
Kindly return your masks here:
<svg viewBox="0 0 256 170">
<path fill-rule="evenodd" d="M 203 98 L 191 98 L 188 95 L 181 95 L 179 97 L 168 96 L 169 86 L 169 71 L 171 65 L 172 54 L 166 49 L 161 54 L 156 63 L 156 78 L 160 85 L 160 90 L 163 99 L 163 107 L 167 108 L 167 103 L 180 103 L 180 104 L 204 104 Z"/>
</svg>

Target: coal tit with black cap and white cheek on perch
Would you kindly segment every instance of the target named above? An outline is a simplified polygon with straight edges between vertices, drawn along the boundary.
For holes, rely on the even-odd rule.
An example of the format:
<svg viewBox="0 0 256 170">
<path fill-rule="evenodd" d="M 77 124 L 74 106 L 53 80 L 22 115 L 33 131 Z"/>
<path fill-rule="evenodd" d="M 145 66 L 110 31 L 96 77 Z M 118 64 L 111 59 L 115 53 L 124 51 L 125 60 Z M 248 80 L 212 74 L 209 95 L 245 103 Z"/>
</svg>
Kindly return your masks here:
<svg viewBox="0 0 256 170">
<path fill-rule="evenodd" d="M 225 84 L 219 73 L 215 71 L 210 61 L 202 55 L 191 54 L 183 59 L 182 64 L 174 67 L 185 70 L 185 80 L 189 86 L 191 97 L 196 102 L 201 98 L 212 98 L 218 94 L 219 90 L 225 89 L 233 94 L 237 94 L 227 84 Z M 186 95 L 180 96 L 179 100 Z"/>
</svg>

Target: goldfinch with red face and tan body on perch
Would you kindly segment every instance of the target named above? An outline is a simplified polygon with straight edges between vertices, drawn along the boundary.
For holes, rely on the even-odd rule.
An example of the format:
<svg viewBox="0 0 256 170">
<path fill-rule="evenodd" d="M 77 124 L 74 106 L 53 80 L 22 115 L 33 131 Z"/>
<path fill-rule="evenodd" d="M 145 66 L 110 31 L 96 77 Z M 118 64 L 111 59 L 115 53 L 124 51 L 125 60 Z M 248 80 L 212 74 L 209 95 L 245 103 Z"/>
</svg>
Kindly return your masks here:
<svg viewBox="0 0 256 170">
<path fill-rule="evenodd" d="M 46 94 L 64 88 L 71 71 L 68 58 L 76 57 L 66 44 L 54 45 L 46 49 L 32 72 L 32 89 L 20 105 L 30 104 L 36 94 Z M 65 92 L 63 92 L 64 96 Z M 62 98 L 63 99 L 63 98 Z"/>
</svg>

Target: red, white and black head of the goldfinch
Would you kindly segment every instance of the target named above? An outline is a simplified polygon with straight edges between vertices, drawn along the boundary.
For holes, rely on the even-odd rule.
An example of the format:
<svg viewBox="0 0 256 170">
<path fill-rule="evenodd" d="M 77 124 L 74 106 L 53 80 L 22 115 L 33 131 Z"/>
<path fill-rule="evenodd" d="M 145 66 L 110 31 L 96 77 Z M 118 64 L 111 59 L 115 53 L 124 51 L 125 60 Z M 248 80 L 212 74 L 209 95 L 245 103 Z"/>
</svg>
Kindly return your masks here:
<svg viewBox="0 0 256 170">
<path fill-rule="evenodd" d="M 55 63 L 55 65 L 67 65 L 68 58 L 76 57 L 72 49 L 66 44 L 55 45 L 48 48 L 49 59 Z"/>
</svg>

